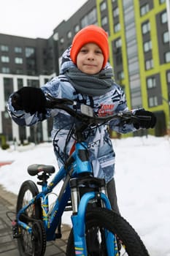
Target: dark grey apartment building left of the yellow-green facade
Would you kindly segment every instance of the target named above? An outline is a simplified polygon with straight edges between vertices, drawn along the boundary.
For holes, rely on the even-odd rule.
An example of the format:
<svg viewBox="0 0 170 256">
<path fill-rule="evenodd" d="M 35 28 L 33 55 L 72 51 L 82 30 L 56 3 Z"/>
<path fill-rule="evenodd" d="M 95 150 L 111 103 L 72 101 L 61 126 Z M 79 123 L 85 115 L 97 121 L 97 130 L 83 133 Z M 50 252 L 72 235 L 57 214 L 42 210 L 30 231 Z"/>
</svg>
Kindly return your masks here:
<svg viewBox="0 0 170 256">
<path fill-rule="evenodd" d="M 0 135 L 18 142 L 50 140 L 51 120 L 18 127 L 7 113 L 7 99 L 22 86 L 39 87 L 58 75 L 63 50 L 90 23 L 97 23 L 96 0 L 87 1 L 69 20 L 63 20 L 49 39 L 0 34 Z"/>
</svg>

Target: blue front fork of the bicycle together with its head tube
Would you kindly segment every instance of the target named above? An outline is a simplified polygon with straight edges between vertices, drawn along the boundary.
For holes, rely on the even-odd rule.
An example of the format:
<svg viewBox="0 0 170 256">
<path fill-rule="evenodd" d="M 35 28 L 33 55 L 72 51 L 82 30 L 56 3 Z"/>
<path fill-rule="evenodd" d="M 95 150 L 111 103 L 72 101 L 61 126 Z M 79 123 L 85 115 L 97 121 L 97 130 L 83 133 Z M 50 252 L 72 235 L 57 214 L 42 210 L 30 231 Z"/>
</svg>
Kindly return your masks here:
<svg viewBox="0 0 170 256">
<path fill-rule="evenodd" d="M 75 255 L 88 256 L 85 239 L 85 213 L 88 203 L 91 200 L 98 201 L 100 202 L 100 207 L 110 210 L 111 206 L 106 195 L 104 179 L 93 177 L 93 170 L 88 158 L 87 143 L 82 142 L 81 136 L 79 139 L 80 143 L 76 143 L 75 145 L 75 160 L 77 163 L 77 176 L 79 178 L 72 178 L 70 180 L 73 209 L 72 225 Z M 104 230 L 104 238 L 106 237 L 107 254 L 109 256 L 117 256 L 115 236 Z"/>
</svg>

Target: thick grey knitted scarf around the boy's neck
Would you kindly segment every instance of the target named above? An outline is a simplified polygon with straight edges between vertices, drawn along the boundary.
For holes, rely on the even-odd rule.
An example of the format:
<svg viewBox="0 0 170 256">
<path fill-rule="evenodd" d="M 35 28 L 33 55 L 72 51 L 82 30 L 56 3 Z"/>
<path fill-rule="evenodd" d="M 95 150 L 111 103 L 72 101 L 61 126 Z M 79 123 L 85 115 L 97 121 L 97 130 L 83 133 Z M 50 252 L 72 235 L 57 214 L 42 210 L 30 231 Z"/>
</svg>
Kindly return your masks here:
<svg viewBox="0 0 170 256">
<path fill-rule="evenodd" d="M 106 94 L 112 89 L 112 68 L 102 69 L 96 75 L 88 75 L 72 67 L 68 69 L 65 74 L 66 78 L 72 84 L 80 94 L 86 94 L 88 96 L 101 96 Z"/>
</svg>

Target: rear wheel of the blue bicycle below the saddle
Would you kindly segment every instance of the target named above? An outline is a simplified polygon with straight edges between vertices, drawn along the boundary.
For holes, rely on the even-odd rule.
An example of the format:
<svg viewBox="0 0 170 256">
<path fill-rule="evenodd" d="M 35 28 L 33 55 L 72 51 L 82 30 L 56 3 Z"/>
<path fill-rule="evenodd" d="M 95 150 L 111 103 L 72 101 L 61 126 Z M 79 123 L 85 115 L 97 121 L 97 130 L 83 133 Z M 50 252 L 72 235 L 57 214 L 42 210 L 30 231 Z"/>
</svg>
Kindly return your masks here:
<svg viewBox="0 0 170 256">
<path fill-rule="evenodd" d="M 25 181 L 20 187 L 20 192 L 18 194 L 17 201 L 17 213 L 23 206 L 26 206 L 28 202 L 33 199 L 39 193 L 36 184 L 33 181 Z M 36 224 L 34 222 L 28 222 L 26 217 L 37 220 Z M 45 230 L 42 224 L 42 208 L 41 201 L 36 200 L 34 204 L 29 206 L 25 214 L 22 214 L 20 220 L 27 223 L 33 227 L 34 234 L 28 233 L 27 230 L 20 227 L 20 237 L 18 238 L 18 250 L 20 256 L 31 256 L 31 255 L 44 255 L 45 253 Z M 36 244 L 35 244 L 36 243 Z M 41 252 L 39 252 L 41 248 Z"/>
</svg>

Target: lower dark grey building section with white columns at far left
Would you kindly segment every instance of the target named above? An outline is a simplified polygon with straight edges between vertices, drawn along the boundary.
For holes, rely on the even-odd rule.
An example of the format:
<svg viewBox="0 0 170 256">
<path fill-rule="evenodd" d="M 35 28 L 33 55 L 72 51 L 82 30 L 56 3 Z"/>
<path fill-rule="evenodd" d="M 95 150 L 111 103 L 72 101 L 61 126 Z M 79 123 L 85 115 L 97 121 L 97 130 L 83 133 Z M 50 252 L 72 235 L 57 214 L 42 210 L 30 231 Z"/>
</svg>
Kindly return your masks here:
<svg viewBox="0 0 170 256">
<path fill-rule="evenodd" d="M 47 123 L 35 127 L 18 127 L 7 113 L 7 100 L 22 86 L 39 87 L 54 72 L 50 58 L 50 40 L 0 34 L 0 134 L 7 140 L 47 140 Z M 42 138 L 42 128 L 44 135 Z M 36 134 L 36 135 L 35 135 Z"/>
</svg>

